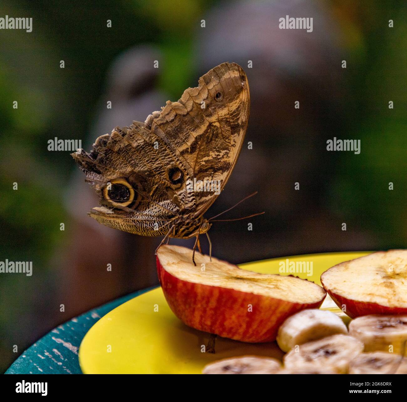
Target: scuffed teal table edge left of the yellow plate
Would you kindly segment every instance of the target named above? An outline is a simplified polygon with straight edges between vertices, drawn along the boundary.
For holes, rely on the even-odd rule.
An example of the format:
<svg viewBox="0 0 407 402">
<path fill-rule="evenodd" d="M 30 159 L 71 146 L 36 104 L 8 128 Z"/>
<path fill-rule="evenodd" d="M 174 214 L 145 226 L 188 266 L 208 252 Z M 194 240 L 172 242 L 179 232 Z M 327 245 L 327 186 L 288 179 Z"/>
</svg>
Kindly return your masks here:
<svg viewBox="0 0 407 402">
<path fill-rule="evenodd" d="M 79 346 L 90 328 L 120 304 L 152 289 L 130 293 L 57 326 L 24 350 L 4 374 L 82 374 Z"/>
</svg>

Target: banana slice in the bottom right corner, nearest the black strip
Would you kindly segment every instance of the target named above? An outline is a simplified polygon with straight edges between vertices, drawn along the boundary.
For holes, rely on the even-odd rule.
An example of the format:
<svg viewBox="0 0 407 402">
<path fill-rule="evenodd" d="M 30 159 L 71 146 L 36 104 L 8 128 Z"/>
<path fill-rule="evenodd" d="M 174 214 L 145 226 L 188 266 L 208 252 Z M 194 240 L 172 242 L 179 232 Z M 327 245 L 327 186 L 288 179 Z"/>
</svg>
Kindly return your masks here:
<svg viewBox="0 0 407 402">
<path fill-rule="evenodd" d="M 386 352 L 361 353 L 349 363 L 349 374 L 407 374 L 407 359 Z"/>
</svg>

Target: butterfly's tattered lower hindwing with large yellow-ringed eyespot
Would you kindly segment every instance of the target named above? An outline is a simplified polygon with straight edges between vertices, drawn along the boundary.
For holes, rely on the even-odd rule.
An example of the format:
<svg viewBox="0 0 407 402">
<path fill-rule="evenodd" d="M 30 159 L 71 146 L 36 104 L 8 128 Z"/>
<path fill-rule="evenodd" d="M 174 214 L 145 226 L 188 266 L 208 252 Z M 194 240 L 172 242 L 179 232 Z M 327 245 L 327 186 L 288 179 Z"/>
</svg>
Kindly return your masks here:
<svg viewBox="0 0 407 402">
<path fill-rule="evenodd" d="M 192 169 L 144 123 L 116 127 L 98 137 L 89 154 L 72 156 L 101 200 L 90 216 L 106 226 L 159 236 L 183 211 L 195 209 L 195 195 L 185 184 Z"/>
</svg>

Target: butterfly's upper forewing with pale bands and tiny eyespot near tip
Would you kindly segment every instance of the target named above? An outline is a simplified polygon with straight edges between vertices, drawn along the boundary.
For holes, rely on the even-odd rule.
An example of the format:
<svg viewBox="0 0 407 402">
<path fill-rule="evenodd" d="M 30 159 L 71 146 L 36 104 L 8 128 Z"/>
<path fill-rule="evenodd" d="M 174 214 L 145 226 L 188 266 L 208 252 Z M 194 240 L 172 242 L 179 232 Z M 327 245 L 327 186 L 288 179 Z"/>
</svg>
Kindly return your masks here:
<svg viewBox="0 0 407 402">
<path fill-rule="evenodd" d="M 166 102 L 160 112 L 147 117 L 145 126 L 165 141 L 192 175 L 189 180 L 206 183 L 194 191 L 195 205 L 186 205 L 201 216 L 223 189 L 239 153 L 249 120 L 249 84 L 243 68 L 222 63 L 188 88 L 177 102 Z M 185 176 L 187 179 L 187 176 Z M 212 187 L 210 187 L 212 183 Z M 215 194 L 218 192 L 218 194 Z"/>
</svg>

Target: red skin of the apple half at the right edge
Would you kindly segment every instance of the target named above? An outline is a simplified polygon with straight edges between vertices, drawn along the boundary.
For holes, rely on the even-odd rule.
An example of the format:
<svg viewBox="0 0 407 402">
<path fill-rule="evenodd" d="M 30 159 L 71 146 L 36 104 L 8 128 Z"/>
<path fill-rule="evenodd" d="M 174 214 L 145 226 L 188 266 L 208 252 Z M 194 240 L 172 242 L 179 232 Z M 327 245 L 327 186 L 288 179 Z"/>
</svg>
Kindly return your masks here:
<svg viewBox="0 0 407 402">
<path fill-rule="evenodd" d="M 322 281 L 321 281 L 322 283 Z M 322 286 L 324 284 L 322 283 Z M 388 307 L 382 306 L 381 304 L 377 303 L 369 303 L 369 302 L 361 302 L 359 300 L 350 300 L 343 296 L 339 296 L 336 293 L 331 292 L 330 290 L 324 289 L 328 292 L 328 295 L 332 298 L 332 300 L 336 303 L 339 309 L 342 310 L 342 306 L 346 306 L 346 311 L 344 313 L 348 315 L 350 318 L 361 317 L 362 315 L 370 315 L 370 314 L 379 314 L 379 315 L 400 315 L 400 314 L 407 314 L 407 308 L 403 307 Z"/>
</svg>

